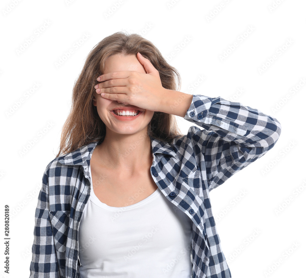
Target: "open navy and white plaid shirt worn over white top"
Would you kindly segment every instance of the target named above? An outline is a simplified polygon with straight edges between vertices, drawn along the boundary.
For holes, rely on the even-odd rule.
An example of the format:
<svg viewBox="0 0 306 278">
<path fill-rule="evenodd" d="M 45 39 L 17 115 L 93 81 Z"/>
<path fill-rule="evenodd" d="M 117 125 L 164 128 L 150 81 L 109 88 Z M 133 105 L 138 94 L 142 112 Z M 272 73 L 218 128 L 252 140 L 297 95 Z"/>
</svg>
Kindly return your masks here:
<svg viewBox="0 0 306 278">
<path fill-rule="evenodd" d="M 221 97 L 193 95 L 187 135 L 151 138 L 151 176 L 166 198 L 192 220 L 191 278 L 227 278 L 209 192 L 270 150 L 281 133 L 275 118 Z M 35 211 L 30 278 L 79 277 L 78 228 L 90 196 L 88 167 L 99 141 L 52 160 Z M 103 248 L 103 246 L 101 246 Z"/>
</svg>

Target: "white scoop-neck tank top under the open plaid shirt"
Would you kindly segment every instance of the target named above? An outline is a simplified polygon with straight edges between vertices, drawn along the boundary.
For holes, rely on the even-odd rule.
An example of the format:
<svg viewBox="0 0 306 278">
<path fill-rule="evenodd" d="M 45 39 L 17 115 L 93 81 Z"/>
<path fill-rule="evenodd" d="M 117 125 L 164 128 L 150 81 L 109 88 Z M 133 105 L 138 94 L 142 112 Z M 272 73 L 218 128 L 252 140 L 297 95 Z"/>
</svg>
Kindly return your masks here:
<svg viewBox="0 0 306 278">
<path fill-rule="evenodd" d="M 190 278 L 191 224 L 159 188 L 136 204 L 112 207 L 91 183 L 79 225 L 80 278 Z"/>
</svg>

